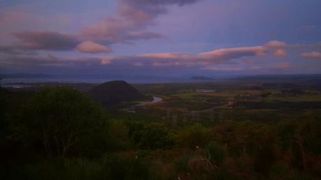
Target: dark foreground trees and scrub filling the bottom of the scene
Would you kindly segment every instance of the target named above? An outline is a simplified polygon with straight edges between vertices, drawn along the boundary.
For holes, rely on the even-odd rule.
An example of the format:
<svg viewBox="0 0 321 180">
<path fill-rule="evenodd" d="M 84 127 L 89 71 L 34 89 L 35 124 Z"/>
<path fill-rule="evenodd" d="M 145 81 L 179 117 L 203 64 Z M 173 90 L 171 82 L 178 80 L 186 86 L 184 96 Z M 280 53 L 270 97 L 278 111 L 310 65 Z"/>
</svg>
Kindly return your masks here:
<svg viewBox="0 0 321 180">
<path fill-rule="evenodd" d="M 321 121 L 176 127 L 111 119 L 71 87 L 1 90 L 0 107 L 0 179 L 321 177 Z"/>
</svg>

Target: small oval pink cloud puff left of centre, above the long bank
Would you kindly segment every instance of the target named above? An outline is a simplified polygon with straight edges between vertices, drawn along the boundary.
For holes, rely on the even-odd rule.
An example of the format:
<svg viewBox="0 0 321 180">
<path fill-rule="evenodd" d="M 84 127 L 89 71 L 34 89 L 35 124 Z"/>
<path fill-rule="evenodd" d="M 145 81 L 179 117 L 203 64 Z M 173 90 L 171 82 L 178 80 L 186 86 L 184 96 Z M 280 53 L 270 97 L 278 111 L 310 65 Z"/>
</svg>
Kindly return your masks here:
<svg viewBox="0 0 321 180">
<path fill-rule="evenodd" d="M 101 53 L 101 52 L 112 52 L 110 47 L 106 47 L 105 45 L 100 45 L 97 43 L 94 43 L 92 41 L 85 41 L 77 45 L 77 50 L 79 52 L 84 53 Z"/>
</svg>

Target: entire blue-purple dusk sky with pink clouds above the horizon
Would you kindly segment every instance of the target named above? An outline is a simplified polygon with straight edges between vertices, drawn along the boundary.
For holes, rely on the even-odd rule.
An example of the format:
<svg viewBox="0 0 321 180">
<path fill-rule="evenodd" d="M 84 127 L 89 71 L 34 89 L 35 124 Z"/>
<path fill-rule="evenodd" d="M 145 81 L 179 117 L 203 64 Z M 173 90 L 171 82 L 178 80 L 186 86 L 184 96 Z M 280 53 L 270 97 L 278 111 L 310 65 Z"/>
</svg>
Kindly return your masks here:
<svg viewBox="0 0 321 180">
<path fill-rule="evenodd" d="M 321 73 L 320 0 L 0 0 L 0 73 Z"/>
</svg>

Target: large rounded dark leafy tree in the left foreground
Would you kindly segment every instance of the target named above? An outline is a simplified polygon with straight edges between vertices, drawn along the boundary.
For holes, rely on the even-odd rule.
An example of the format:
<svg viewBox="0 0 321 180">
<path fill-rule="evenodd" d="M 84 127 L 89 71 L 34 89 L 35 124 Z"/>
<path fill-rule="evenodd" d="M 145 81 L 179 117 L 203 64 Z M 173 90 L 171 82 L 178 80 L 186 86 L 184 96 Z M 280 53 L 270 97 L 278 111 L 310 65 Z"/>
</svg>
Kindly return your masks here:
<svg viewBox="0 0 321 180">
<path fill-rule="evenodd" d="M 31 143 L 40 141 L 48 156 L 65 156 L 86 136 L 100 132 L 104 120 L 102 107 L 72 87 L 43 89 L 20 116 L 22 133 Z"/>
</svg>

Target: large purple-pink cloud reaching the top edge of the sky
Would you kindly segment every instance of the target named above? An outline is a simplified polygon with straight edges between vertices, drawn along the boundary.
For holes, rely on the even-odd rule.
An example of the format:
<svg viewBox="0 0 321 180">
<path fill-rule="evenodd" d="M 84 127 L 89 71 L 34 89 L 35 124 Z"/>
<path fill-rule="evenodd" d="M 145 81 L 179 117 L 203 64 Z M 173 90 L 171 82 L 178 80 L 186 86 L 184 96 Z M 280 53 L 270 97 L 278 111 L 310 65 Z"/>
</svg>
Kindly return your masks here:
<svg viewBox="0 0 321 180">
<path fill-rule="evenodd" d="M 132 40 L 162 38 L 163 36 L 142 31 L 155 24 L 158 15 L 167 13 L 167 5 L 183 6 L 197 0 L 120 0 L 119 11 L 115 17 L 107 17 L 102 22 L 82 29 L 81 34 L 89 40 L 104 44 L 130 43 Z"/>
</svg>

